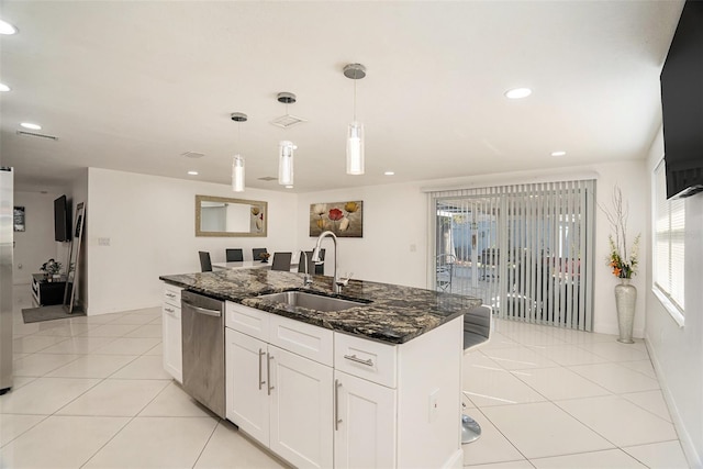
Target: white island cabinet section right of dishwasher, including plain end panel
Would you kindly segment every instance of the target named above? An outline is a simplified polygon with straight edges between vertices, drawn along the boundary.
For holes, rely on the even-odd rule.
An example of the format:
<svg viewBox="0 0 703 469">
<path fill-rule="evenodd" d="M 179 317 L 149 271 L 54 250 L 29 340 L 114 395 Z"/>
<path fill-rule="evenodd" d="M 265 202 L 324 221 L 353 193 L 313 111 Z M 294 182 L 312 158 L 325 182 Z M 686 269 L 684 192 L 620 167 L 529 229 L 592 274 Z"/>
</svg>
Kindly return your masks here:
<svg viewBox="0 0 703 469">
<path fill-rule="evenodd" d="M 226 416 L 295 467 L 460 468 L 462 319 L 389 345 L 227 302 Z"/>
</svg>

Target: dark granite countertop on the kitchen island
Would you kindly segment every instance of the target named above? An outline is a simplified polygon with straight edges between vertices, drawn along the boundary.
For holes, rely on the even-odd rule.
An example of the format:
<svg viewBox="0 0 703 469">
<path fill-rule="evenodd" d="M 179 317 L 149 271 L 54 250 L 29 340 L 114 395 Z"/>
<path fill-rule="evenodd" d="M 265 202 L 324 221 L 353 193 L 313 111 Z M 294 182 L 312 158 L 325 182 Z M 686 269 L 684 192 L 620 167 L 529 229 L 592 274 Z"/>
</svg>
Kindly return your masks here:
<svg viewBox="0 0 703 469">
<path fill-rule="evenodd" d="M 481 304 L 480 299 L 472 297 L 355 279 L 349 281 L 342 294 L 333 294 L 331 277 L 314 276 L 313 283 L 303 287 L 302 273 L 265 269 L 182 273 L 161 276 L 159 279 L 219 300 L 234 301 L 388 344 L 403 344 Z M 256 298 L 287 290 L 309 291 L 368 303 L 343 311 L 322 312 Z"/>
</svg>

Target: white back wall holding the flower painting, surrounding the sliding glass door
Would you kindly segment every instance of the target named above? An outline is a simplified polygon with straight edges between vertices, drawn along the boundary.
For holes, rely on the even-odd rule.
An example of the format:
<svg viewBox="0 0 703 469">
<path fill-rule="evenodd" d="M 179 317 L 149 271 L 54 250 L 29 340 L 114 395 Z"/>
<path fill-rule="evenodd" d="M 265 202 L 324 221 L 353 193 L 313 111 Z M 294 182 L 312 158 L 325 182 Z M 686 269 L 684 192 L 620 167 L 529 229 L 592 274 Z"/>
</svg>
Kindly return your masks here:
<svg viewBox="0 0 703 469">
<path fill-rule="evenodd" d="M 632 242 L 637 233 L 641 234 L 640 246 L 644 249 L 649 237 L 649 189 L 647 183 L 643 183 L 646 180 L 644 160 L 304 193 L 298 198 L 298 238 L 301 247 L 310 249 L 314 245 L 315 239 L 309 236 L 310 204 L 361 200 L 364 237 L 337 241 L 342 273 L 354 271 L 356 278 L 427 288 L 427 256 L 432 252 L 432 239 L 428 237 L 428 196 L 423 190 L 584 178 L 596 179 L 596 201 L 604 206 L 611 205 L 614 186 L 621 188 L 624 200 L 629 204 L 629 241 Z M 600 210 L 596 211 L 595 225 L 594 331 L 617 334 L 614 288 L 618 280 L 606 265 L 610 225 Z M 328 241 L 324 242 L 324 246 L 328 249 L 332 247 Z M 416 248 L 415 252 L 412 250 L 412 246 Z M 641 249 L 639 272 L 645 272 L 648 256 Z M 325 273 L 332 275 L 332 252 L 327 253 Z M 431 268 L 434 268 L 434 265 Z M 645 276 L 636 276 L 633 284 L 643 292 L 646 284 Z M 644 330 L 645 298 L 640 293 L 637 298 L 634 335 L 643 337 Z"/>
</svg>

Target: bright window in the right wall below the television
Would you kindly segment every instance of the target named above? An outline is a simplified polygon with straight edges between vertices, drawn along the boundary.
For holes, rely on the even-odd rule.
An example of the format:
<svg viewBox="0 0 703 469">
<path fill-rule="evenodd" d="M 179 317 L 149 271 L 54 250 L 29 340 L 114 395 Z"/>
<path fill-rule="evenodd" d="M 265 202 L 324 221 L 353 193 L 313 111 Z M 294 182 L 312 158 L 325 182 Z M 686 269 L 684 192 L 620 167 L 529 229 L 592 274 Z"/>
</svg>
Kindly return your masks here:
<svg viewBox="0 0 703 469">
<path fill-rule="evenodd" d="M 657 166 L 655 179 L 655 242 L 654 291 L 672 314 L 683 324 L 683 265 L 685 256 L 684 201 L 667 200 L 667 178 L 663 159 Z"/>
</svg>

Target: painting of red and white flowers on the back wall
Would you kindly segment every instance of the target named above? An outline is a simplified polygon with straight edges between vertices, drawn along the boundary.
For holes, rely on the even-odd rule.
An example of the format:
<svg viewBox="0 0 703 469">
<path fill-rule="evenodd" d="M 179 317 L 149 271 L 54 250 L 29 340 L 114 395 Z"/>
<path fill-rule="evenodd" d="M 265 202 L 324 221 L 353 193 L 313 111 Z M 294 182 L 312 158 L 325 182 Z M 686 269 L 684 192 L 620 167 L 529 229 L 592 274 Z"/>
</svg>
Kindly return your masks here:
<svg viewBox="0 0 703 469">
<path fill-rule="evenodd" d="M 364 202 L 310 204 L 310 236 L 331 231 L 338 237 L 364 237 Z"/>
</svg>

